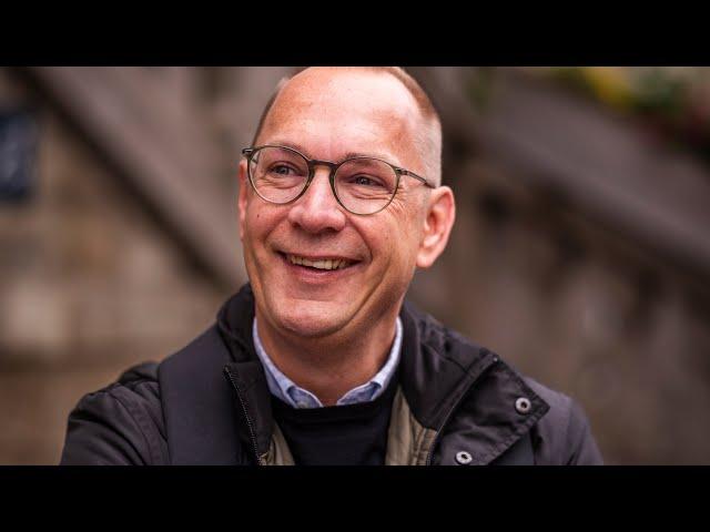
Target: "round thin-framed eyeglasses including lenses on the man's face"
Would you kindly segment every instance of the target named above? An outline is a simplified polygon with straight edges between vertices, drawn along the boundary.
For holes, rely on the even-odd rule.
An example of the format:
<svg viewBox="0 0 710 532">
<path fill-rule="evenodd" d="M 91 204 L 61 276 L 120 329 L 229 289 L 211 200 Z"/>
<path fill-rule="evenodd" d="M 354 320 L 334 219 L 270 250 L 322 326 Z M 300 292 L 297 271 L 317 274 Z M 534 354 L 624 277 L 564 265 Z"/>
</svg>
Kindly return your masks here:
<svg viewBox="0 0 710 532">
<path fill-rule="evenodd" d="M 315 167 L 331 170 L 331 190 L 343 208 L 359 215 L 376 214 L 395 197 L 399 178 L 408 175 L 435 188 L 425 177 L 374 157 L 346 158 L 341 163 L 307 158 L 285 146 L 245 147 L 248 181 L 258 196 L 270 203 L 295 202 L 305 194 Z"/>
</svg>

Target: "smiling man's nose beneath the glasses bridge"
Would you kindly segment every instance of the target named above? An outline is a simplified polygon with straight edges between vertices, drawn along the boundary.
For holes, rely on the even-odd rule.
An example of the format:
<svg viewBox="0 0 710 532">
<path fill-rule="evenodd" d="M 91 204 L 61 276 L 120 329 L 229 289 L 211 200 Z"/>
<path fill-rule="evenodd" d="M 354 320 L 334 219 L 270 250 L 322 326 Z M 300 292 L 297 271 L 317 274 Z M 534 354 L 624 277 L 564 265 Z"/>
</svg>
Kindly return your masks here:
<svg viewBox="0 0 710 532">
<path fill-rule="evenodd" d="M 308 190 L 288 212 L 288 221 L 308 233 L 338 232 L 345 226 L 345 213 L 335 200 L 328 172 L 318 166 Z"/>
</svg>

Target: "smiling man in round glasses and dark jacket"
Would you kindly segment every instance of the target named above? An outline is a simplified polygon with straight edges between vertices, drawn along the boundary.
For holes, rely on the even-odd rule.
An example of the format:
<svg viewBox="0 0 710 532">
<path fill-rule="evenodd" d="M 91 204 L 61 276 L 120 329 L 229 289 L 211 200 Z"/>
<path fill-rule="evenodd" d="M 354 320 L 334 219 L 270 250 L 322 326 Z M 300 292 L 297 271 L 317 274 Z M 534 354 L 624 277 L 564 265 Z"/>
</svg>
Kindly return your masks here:
<svg viewBox="0 0 710 532">
<path fill-rule="evenodd" d="M 62 463 L 595 464 L 580 408 L 409 304 L 444 250 L 442 127 L 394 68 L 280 85 L 240 164 L 250 284 L 69 418 Z"/>
</svg>

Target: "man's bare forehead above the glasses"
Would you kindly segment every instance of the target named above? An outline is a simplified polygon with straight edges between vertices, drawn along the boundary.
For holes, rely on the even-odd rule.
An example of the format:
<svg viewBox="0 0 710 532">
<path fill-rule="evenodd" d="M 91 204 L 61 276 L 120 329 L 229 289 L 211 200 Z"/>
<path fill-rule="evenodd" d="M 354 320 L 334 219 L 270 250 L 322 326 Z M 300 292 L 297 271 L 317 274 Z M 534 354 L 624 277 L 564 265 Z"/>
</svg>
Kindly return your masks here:
<svg viewBox="0 0 710 532">
<path fill-rule="evenodd" d="M 405 164 L 403 160 L 416 157 L 419 121 L 414 98 L 393 75 L 308 69 L 282 89 L 258 142 L 288 142 L 318 158 L 362 152 Z"/>
</svg>

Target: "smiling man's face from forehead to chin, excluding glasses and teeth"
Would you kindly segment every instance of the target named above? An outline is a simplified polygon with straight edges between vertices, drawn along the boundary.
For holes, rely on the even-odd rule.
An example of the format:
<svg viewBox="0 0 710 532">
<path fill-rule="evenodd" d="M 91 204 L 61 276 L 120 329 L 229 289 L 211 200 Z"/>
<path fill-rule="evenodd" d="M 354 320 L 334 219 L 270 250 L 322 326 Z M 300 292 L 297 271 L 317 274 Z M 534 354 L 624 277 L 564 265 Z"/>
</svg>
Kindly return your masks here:
<svg viewBox="0 0 710 532">
<path fill-rule="evenodd" d="M 414 99 L 393 76 L 310 69 L 283 89 L 258 145 L 286 145 L 310 158 L 369 155 L 424 175 L 414 135 Z M 301 337 L 366 330 L 392 317 L 414 275 L 428 188 L 403 176 L 384 211 L 358 216 L 335 200 L 318 166 L 296 202 L 260 198 L 240 166 L 240 229 L 257 316 Z M 346 260 L 342 269 L 292 264 L 294 257 Z"/>
</svg>

